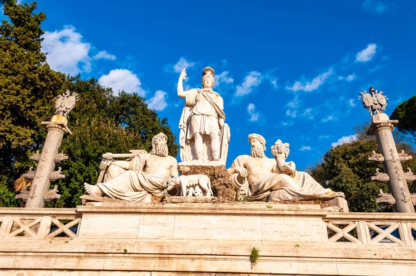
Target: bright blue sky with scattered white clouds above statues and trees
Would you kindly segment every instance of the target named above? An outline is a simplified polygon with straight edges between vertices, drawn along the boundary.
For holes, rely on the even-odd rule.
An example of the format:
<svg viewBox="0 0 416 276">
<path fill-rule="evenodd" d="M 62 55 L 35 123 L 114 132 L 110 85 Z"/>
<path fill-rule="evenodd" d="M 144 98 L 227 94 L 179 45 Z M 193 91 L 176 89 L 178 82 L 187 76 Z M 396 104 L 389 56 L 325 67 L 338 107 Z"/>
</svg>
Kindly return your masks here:
<svg viewBox="0 0 416 276">
<path fill-rule="evenodd" d="M 415 1 L 37 1 L 55 70 L 145 96 L 176 135 L 187 87 L 216 71 L 232 132 L 227 165 L 248 135 L 291 144 L 298 169 L 315 164 L 369 119 L 370 85 L 387 113 L 415 93 Z"/>
</svg>

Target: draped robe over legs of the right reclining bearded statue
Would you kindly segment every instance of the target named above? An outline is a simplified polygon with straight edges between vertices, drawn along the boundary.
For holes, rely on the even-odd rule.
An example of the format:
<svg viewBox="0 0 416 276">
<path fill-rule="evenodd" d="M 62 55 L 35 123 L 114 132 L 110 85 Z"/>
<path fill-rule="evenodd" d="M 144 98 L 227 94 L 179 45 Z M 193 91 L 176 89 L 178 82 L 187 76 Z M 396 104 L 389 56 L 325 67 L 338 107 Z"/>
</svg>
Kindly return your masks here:
<svg viewBox="0 0 416 276">
<path fill-rule="evenodd" d="M 243 157 L 237 157 L 232 163 L 232 168 L 236 166 L 244 167 Z M 303 171 L 295 171 L 294 176 L 284 173 L 270 172 L 263 180 L 249 183 L 247 178 L 241 178 L 239 173 L 231 176 L 232 183 L 239 189 L 237 196 L 245 196 L 252 200 L 266 200 L 272 191 L 283 189 L 291 196 L 304 199 L 312 198 L 335 198 L 340 196 L 331 189 L 324 189 L 311 175 Z"/>
</svg>

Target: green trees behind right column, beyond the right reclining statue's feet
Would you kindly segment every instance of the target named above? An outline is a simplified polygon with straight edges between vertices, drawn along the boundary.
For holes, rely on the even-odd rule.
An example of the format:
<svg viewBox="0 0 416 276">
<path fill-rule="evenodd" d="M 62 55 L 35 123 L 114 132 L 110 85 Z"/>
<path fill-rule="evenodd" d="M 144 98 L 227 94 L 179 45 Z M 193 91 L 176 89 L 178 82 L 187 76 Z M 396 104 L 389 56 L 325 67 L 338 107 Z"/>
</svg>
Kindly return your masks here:
<svg viewBox="0 0 416 276">
<path fill-rule="evenodd" d="M 376 169 L 383 172 L 383 165 L 370 161 L 368 157 L 375 150 L 379 152 L 375 137 L 365 137 L 358 132 L 358 140 L 331 148 L 324 153 L 322 164 L 317 164 L 309 170 L 313 178 L 324 187 L 334 191 L 343 191 L 352 212 L 376 212 L 381 211 L 376 205 L 380 189 L 388 191 L 387 184 L 372 182 L 371 177 Z M 401 143 L 397 146 L 399 152 L 405 149 L 411 153 L 408 144 Z M 415 156 L 413 153 L 411 153 Z M 416 159 L 403 164 L 416 169 Z M 415 184 L 409 185 L 413 190 Z"/>
</svg>

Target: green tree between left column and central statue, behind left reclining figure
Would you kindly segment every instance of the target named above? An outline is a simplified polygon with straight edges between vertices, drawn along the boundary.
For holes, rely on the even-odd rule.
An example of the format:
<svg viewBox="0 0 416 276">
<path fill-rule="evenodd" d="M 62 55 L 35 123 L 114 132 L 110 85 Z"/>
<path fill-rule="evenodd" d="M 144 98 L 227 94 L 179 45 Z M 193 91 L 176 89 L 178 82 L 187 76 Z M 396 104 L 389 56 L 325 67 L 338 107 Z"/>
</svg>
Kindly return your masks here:
<svg viewBox="0 0 416 276">
<path fill-rule="evenodd" d="M 128 153 L 130 149 L 150 150 L 151 139 L 159 132 L 168 137 L 170 155 L 177 155 L 176 138 L 166 119 L 149 110 L 144 98 L 121 92 L 112 96 L 94 78 L 69 78 L 66 87 L 80 96 L 80 101 L 69 114 L 69 128 L 73 132 L 62 140 L 60 150 L 69 155 L 62 171 L 66 175 L 59 182 L 61 198 L 50 207 L 80 205 L 85 193 L 83 183 L 95 184 L 103 153 Z"/>
</svg>

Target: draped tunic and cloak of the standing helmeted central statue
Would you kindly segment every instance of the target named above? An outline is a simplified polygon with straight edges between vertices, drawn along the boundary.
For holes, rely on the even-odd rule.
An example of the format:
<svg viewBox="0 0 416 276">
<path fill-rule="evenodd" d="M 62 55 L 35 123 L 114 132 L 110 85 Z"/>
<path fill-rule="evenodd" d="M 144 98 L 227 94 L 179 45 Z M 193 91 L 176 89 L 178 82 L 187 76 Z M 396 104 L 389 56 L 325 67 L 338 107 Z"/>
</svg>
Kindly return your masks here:
<svg viewBox="0 0 416 276">
<path fill-rule="evenodd" d="M 211 139 L 207 135 L 218 132 L 220 135 L 220 159 L 227 159 L 229 127 L 225 123 L 220 130 L 218 119 L 225 119 L 223 98 L 214 91 L 190 89 L 186 92 L 185 106 L 180 117 L 180 158 L 184 161 L 196 160 L 193 149 L 193 135 L 204 134 L 204 160 L 213 160 L 211 156 Z"/>
</svg>

